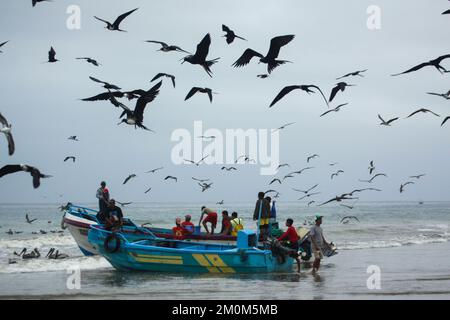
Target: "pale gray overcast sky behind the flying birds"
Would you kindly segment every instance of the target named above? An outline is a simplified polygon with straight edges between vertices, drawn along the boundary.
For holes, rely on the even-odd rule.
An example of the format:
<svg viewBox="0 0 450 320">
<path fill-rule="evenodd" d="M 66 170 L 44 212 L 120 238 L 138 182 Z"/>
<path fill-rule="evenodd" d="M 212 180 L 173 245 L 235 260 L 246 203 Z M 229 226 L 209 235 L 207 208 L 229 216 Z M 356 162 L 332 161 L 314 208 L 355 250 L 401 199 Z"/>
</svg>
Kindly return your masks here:
<svg viewBox="0 0 450 320">
<path fill-rule="evenodd" d="M 369 5 L 381 8 L 381 30 L 366 26 Z M 81 30 L 66 28 L 68 5 L 81 8 Z M 133 8 L 139 10 L 121 25 L 127 33 L 111 32 L 93 18 L 113 21 Z M 441 116 L 450 115 L 448 101 L 425 94 L 446 92 L 448 75 L 425 68 L 409 75 L 390 77 L 410 67 L 450 53 L 448 1 L 54 1 L 31 7 L 28 0 L 3 0 L 0 4 L 0 42 L 10 40 L 0 54 L 2 102 L 0 112 L 13 124 L 16 153 L 7 156 L 4 137 L 0 138 L 0 165 L 26 163 L 54 177 L 43 180 L 34 190 L 31 178 L 15 174 L 0 179 L 0 202 L 95 200 L 95 190 L 106 180 L 113 197 L 122 201 L 253 201 L 256 192 L 275 187 L 280 200 L 295 200 L 290 188 L 307 189 L 319 183 L 317 202 L 366 184 L 368 163 L 388 178 L 371 187 L 379 193 L 364 193 L 361 200 L 450 200 L 450 124 L 440 127 L 441 118 L 417 115 L 426 107 Z M 234 29 L 249 41 L 227 45 L 221 37 L 221 24 Z M 210 33 L 209 58 L 220 57 L 209 78 L 198 66 L 181 65 L 180 53 L 157 52 L 157 45 L 143 40 L 162 40 L 194 52 Z M 274 36 L 295 34 L 281 49 L 280 58 L 290 60 L 268 79 L 258 79 L 266 65 L 256 59 L 247 67 L 231 64 L 246 48 L 265 54 Z M 44 64 L 53 46 L 55 64 Z M 90 56 L 97 68 L 75 57 Z M 444 65 L 449 66 L 450 61 Z M 279 90 L 291 84 L 316 84 L 326 96 L 343 74 L 369 69 L 365 78 L 348 78 L 357 84 L 339 93 L 333 106 L 349 105 L 326 117 L 319 94 L 295 91 L 272 109 L 268 108 Z M 88 76 L 131 90 L 148 89 L 158 72 L 177 77 L 177 88 L 165 81 L 160 95 L 147 106 L 144 124 L 156 134 L 117 126 L 118 109 L 108 102 L 83 102 L 80 98 L 100 93 L 103 88 Z M 210 87 L 219 94 L 211 105 L 206 97 L 194 96 L 184 102 L 192 86 Z M 128 103 L 134 107 L 134 102 Z M 377 114 L 399 116 L 392 127 L 379 126 Z M 200 167 L 171 163 L 175 143 L 173 130 L 193 129 L 195 120 L 205 128 L 271 129 L 296 122 L 280 133 L 280 161 L 289 163 L 278 176 L 306 166 L 306 157 L 318 153 L 311 162 L 315 170 L 282 186 L 268 186 L 273 179 L 261 176 L 258 165 L 239 166 L 237 172 L 220 170 L 221 165 Z M 67 140 L 70 135 L 80 141 Z M 77 156 L 75 164 L 63 162 Z M 329 167 L 328 164 L 339 165 Z M 145 171 L 164 166 L 155 175 Z M 293 170 L 290 170 L 293 169 Z M 342 169 L 333 181 L 330 175 Z M 125 186 L 130 174 L 138 178 Z M 415 185 L 400 194 L 400 183 L 408 176 L 426 173 Z M 164 182 L 166 175 L 178 183 Z M 200 192 L 191 177 L 208 177 L 213 188 Z M 144 191 L 152 187 L 152 191 Z M 62 198 L 59 194 L 63 194 Z"/>
</svg>

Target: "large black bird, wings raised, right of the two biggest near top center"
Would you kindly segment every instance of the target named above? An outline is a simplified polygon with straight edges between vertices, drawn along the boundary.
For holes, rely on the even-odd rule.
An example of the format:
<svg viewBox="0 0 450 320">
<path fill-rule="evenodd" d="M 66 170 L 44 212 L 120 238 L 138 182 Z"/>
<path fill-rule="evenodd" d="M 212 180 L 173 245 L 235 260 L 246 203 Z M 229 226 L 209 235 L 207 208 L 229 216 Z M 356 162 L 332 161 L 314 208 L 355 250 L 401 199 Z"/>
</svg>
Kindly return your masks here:
<svg viewBox="0 0 450 320">
<path fill-rule="evenodd" d="M 267 72 L 270 74 L 276 67 L 285 64 L 286 62 L 290 62 L 287 60 L 276 60 L 276 58 L 280 53 L 281 47 L 291 42 L 294 37 L 294 35 L 285 35 L 272 38 L 272 40 L 270 40 L 270 47 L 266 56 L 263 56 L 261 53 L 248 48 L 244 51 L 242 56 L 237 59 L 235 63 L 233 63 L 232 66 L 235 68 L 242 67 L 249 64 L 253 57 L 259 57 L 259 62 L 267 64 Z"/>
</svg>

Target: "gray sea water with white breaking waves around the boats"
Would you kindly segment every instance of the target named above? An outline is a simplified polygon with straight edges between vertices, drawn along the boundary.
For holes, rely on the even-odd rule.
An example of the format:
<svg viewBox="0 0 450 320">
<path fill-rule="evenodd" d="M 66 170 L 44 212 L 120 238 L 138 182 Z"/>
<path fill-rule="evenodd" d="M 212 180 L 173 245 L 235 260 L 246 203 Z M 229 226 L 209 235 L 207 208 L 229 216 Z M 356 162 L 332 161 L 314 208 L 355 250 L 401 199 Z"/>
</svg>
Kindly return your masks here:
<svg viewBox="0 0 450 320">
<path fill-rule="evenodd" d="M 95 204 L 80 204 L 95 207 Z M 171 227 L 176 217 L 200 217 L 201 203 L 136 203 L 124 214 L 135 223 Z M 208 204 L 206 204 L 208 205 Z M 253 204 L 211 206 L 237 211 L 246 228 L 254 229 Z M 324 216 L 325 238 L 339 254 L 325 259 L 319 276 L 302 273 L 269 275 L 181 275 L 118 272 L 101 257 L 84 257 L 68 231 L 61 231 L 58 204 L 0 205 L 0 298 L 146 298 L 146 299 L 450 299 L 450 203 L 358 203 L 308 208 L 301 203 L 277 203 L 278 221 L 293 218 L 300 226 Z M 25 214 L 37 220 L 29 224 Z M 340 223 L 344 216 L 359 219 Z M 220 222 L 220 221 L 219 221 Z M 9 235 L 8 230 L 21 233 Z M 41 234 L 40 230 L 47 232 Z M 33 234 L 38 232 L 39 234 Z M 69 255 L 48 260 L 50 248 Z M 41 258 L 22 260 L 14 251 L 38 248 Z M 10 259 L 16 263 L 10 264 Z M 369 289 L 369 266 L 381 270 L 382 286 Z M 81 288 L 67 287 L 68 270 L 81 270 Z M 270 288 L 270 290 L 268 290 Z"/>
</svg>

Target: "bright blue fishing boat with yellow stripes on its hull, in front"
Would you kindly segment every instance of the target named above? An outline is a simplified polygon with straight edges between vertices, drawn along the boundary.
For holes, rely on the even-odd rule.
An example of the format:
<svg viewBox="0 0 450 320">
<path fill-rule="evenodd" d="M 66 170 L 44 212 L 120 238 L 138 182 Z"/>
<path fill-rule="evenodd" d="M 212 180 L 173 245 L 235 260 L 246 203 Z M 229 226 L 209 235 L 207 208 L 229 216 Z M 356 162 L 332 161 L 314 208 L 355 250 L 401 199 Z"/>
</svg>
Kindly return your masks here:
<svg viewBox="0 0 450 320">
<path fill-rule="evenodd" d="M 285 252 L 256 248 L 256 234 L 240 230 L 237 245 L 158 238 L 130 241 L 120 232 L 91 226 L 91 245 L 118 270 L 169 273 L 291 272 L 293 259 Z"/>
</svg>

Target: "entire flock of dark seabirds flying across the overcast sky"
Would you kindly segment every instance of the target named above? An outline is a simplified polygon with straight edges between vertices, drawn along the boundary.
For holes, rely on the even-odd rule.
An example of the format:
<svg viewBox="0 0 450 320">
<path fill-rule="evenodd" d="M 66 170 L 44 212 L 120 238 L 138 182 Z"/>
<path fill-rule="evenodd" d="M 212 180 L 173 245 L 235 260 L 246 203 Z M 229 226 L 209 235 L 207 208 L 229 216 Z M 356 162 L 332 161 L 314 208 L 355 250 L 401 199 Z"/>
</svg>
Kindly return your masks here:
<svg viewBox="0 0 450 320">
<path fill-rule="evenodd" d="M 35 6 L 37 3 L 44 2 L 44 1 L 49 1 L 49 0 L 32 0 L 32 5 Z M 105 28 L 109 31 L 124 32 L 125 30 L 121 29 L 122 22 L 126 18 L 128 18 L 131 14 L 136 12 L 137 10 L 138 10 L 138 8 L 135 8 L 133 10 L 123 13 L 123 14 L 119 15 L 113 22 L 107 21 L 107 20 L 99 18 L 97 16 L 94 16 L 94 18 L 96 20 L 104 23 L 106 25 Z M 449 13 L 450 13 L 450 10 L 444 12 L 443 14 L 449 14 Z M 235 33 L 235 31 L 233 31 L 226 25 L 222 25 L 222 31 L 224 32 L 223 37 L 225 37 L 227 44 L 232 44 L 234 41 L 236 41 L 236 39 L 238 39 L 240 41 L 248 41 L 246 38 L 237 35 Z M 259 75 L 257 75 L 257 77 L 261 78 L 261 79 L 268 78 L 271 75 L 271 73 L 279 66 L 287 64 L 287 63 L 292 63 L 291 61 L 280 59 L 279 55 L 281 53 L 281 49 L 284 46 L 288 45 L 291 41 L 293 41 L 294 38 L 295 38 L 295 35 L 281 35 L 281 36 L 276 36 L 276 37 L 272 38 L 269 43 L 268 51 L 265 55 L 254 49 L 247 48 L 242 53 L 242 55 L 232 64 L 232 67 L 234 67 L 234 68 L 245 67 L 252 60 L 254 60 L 254 58 L 256 58 L 256 60 L 258 60 L 259 63 L 263 63 L 263 64 L 267 65 L 267 73 L 259 74 Z M 182 63 L 187 62 L 191 65 L 200 67 L 201 69 L 204 70 L 204 72 L 209 77 L 213 76 L 212 67 L 216 63 L 218 63 L 220 60 L 220 58 L 211 59 L 208 57 L 209 49 L 211 46 L 211 35 L 209 33 L 206 34 L 202 38 L 202 40 L 197 44 L 195 53 L 193 53 L 193 54 L 185 49 L 182 49 L 181 47 L 179 47 L 177 45 L 167 44 L 166 42 L 163 42 L 163 41 L 146 40 L 146 42 L 149 44 L 152 44 L 152 45 L 158 45 L 160 47 L 158 49 L 158 51 L 161 51 L 163 53 L 178 52 L 178 53 L 186 54 L 181 59 Z M 3 46 L 5 46 L 7 43 L 8 43 L 8 41 L 1 43 L 0 48 L 3 48 Z M 428 62 L 423 62 L 423 63 L 417 64 L 417 65 L 407 69 L 406 71 L 403 71 L 403 72 L 400 72 L 397 74 L 393 74 L 392 76 L 396 77 L 396 76 L 401 76 L 401 75 L 405 75 L 405 74 L 410 74 L 413 72 L 418 72 L 421 69 L 426 68 L 426 67 L 433 67 L 441 74 L 446 74 L 450 71 L 442 66 L 442 62 L 449 58 L 450 58 L 450 54 L 442 55 L 442 56 L 432 59 Z M 92 57 L 77 57 L 76 59 L 84 60 L 87 63 L 92 64 L 95 67 L 101 66 L 101 64 Z M 60 60 L 58 60 L 56 58 L 56 51 L 52 46 L 48 52 L 48 61 L 47 62 L 48 63 L 57 63 L 59 61 Z M 315 94 L 315 93 L 320 94 L 320 96 L 324 102 L 324 105 L 327 108 L 327 110 L 325 112 L 323 112 L 320 115 L 320 117 L 324 117 L 333 112 L 339 112 L 341 110 L 341 108 L 347 107 L 348 103 L 339 104 L 336 107 L 330 108 L 331 104 L 333 103 L 333 101 L 335 100 L 335 98 L 338 95 L 342 95 L 344 92 L 351 90 L 352 87 L 356 86 L 355 84 L 349 84 L 347 82 L 344 82 L 343 79 L 356 78 L 356 77 L 364 78 L 367 71 L 368 71 L 368 69 L 357 70 L 357 71 L 349 72 L 345 75 L 342 75 L 342 76 L 336 78 L 336 80 L 339 82 L 336 83 L 336 85 L 333 88 L 331 88 L 328 98 L 325 95 L 324 90 L 322 90 L 322 88 L 320 88 L 316 84 L 296 84 L 296 85 L 286 86 L 286 87 L 282 88 L 281 91 L 270 102 L 269 108 L 274 107 L 276 104 L 280 104 L 281 100 L 286 95 L 291 94 L 293 91 L 299 90 L 300 92 L 305 92 L 307 94 Z M 167 74 L 167 73 L 156 74 L 151 79 L 150 82 L 155 82 L 155 81 L 158 81 L 158 82 L 156 82 L 156 84 L 152 85 L 149 89 L 123 90 L 121 87 L 117 86 L 116 84 L 109 83 L 107 81 L 100 80 L 100 79 L 97 79 L 92 76 L 89 76 L 89 79 L 97 84 L 100 84 L 104 90 L 103 90 L 103 92 L 100 92 L 92 97 L 83 98 L 83 99 L 81 99 L 82 101 L 85 101 L 85 102 L 96 102 L 96 101 L 109 102 L 113 105 L 113 107 L 117 108 L 120 111 L 119 119 L 121 119 L 121 120 L 118 124 L 125 123 L 127 125 L 133 126 L 135 129 L 140 128 L 140 129 L 152 131 L 152 132 L 154 132 L 154 131 L 152 129 L 148 128 L 144 124 L 144 112 L 146 110 L 146 107 L 150 103 L 152 103 L 157 98 L 157 96 L 160 94 L 160 90 L 161 90 L 164 79 L 170 80 L 172 87 L 176 88 L 176 77 L 174 75 Z M 199 95 L 199 94 L 206 95 L 207 98 L 209 99 L 209 101 L 212 103 L 213 95 L 217 94 L 217 93 L 214 92 L 211 88 L 207 88 L 207 87 L 205 87 L 205 88 L 192 87 L 186 94 L 185 100 L 189 100 L 194 95 Z M 433 95 L 433 96 L 438 96 L 438 97 L 441 97 L 446 100 L 450 100 L 450 90 L 446 93 L 428 92 L 427 94 Z M 134 104 L 134 108 L 130 108 L 127 105 L 125 105 L 124 102 L 121 102 L 120 99 L 123 99 L 123 98 L 127 99 L 128 101 L 136 100 L 136 102 Z M 418 108 L 417 110 L 415 110 L 415 111 L 411 112 L 409 115 L 407 115 L 405 118 L 406 119 L 411 118 L 413 116 L 418 116 L 419 114 L 430 114 L 435 117 L 440 117 L 439 114 L 433 112 L 432 110 L 429 110 L 426 108 Z M 399 116 L 394 117 L 394 118 L 386 118 L 380 114 L 378 115 L 378 118 L 381 121 L 380 125 L 382 125 L 382 126 L 392 126 L 394 122 L 396 122 L 400 119 Z M 450 116 L 444 117 L 443 121 L 441 122 L 441 126 L 444 126 L 449 119 L 450 119 Z M 8 154 L 11 156 L 14 154 L 14 151 L 15 151 L 14 139 L 13 139 L 13 134 L 12 134 L 12 125 L 8 122 L 8 120 L 1 113 L 0 113 L 0 123 L 1 123 L 0 132 L 6 137 L 7 144 L 8 144 Z M 294 124 L 295 124 L 295 122 L 287 123 L 273 131 L 284 130 L 288 126 L 291 126 Z M 215 139 L 214 136 L 209 136 L 209 137 L 201 136 L 199 138 L 209 139 L 209 140 Z M 71 141 L 74 141 L 74 142 L 79 141 L 78 136 L 76 136 L 76 135 L 70 136 L 68 139 Z M 185 162 L 198 167 L 202 163 L 204 163 L 204 160 L 208 156 L 209 155 L 205 155 L 200 160 L 185 159 Z M 306 163 L 309 165 L 315 158 L 318 158 L 318 157 L 319 157 L 318 154 L 313 154 L 313 155 L 307 157 Z M 63 161 L 64 162 L 71 161 L 72 163 L 75 163 L 76 156 L 74 156 L 74 155 L 66 156 Z M 255 160 L 251 159 L 248 155 L 241 155 L 240 157 L 238 157 L 235 160 L 235 164 L 248 164 L 248 163 L 253 163 L 253 162 L 255 162 Z M 337 163 L 330 164 L 330 166 L 335 166 L 335 165 L 337 165 Z M 284 167 L 290 167 L 290 165 L 289 164 L 281 164 L 277 169 L 282 169 Z M 155 174 L 156 172 L 163 170 L 163 169 L 164 169 L 164 167 L 158 167 L 158 168 L 149 170 L 146 173 L 147 174 L 148 173 Z M 281 184 L 285 183 L 285 181 L 287 179 L 294 178 L 296 176 L 301 175 L 303 172 L 305 172 L 307 170 L 312 170 L 312 169 L 314 169 L 314 167 L 307 166 L 300 170 L 295 170 L 295 171 L 289 172 L 282 177 L 277 177 L 277 178 L 272 179 L 269 182 L 269 185 L 272 185 L 275 183 L 278 183 L 279 185 L 281 185 Z M 237 171 L 238 168 L 237 168 L 237 166 L 223 166 L 223 167 L 221 167 L 221 170 L 225 171 L 225 172 L 232 172 L 232 171 Z M 378 179 L 381 179 L 381 177 L 387 178 L 387 174 L 382 173 L 382 172 L 372 175 L 374 173 L 374 170 L 375 170 L 374 162 L 370 161 L 368 171 L 371 176 L 369 179 L 366 179 L 366 180 L 361 179 L 360 182 L 366 183 L 366 184 L 372 184 L 375 181 L 378 181 Z M 41 173 L 39 169 L 37 169 L 33 166 L 23 165 L 23 164 L 12 164 L 12 165 L 5 165 L 4 167 L 0 168 L 0 178 L 5 175 L 13 174 L 16 172 L 29 173 L 32 176 L 34 188 L 38 188 L 40 186 L 40 180 L 42 178 L 50 178 L 51 177 L 50 175 Z M 344 170 L 338 169 L 331 174 L 330 179 L 331 180 L 337 179 L 342 174 L 344 174 Z M 419 180 L 424 175 L 425 174 L 410 176 L 407 181 L 401 183 L 401 185 L 399 187 L 399 192 L 400 193 L 405 192 L 406 187 L 408 185 L 415 184 L 417 182 L 417 180 Z M 127 176 L 124 179 L 123 184 L 125 185 L 125 184 L 129 183 L 132 179 L 135 179 L 137 177 L 138 177 L 138 175 L 136 173 L 131 173 L 129 176 Z M 173 176 L 173 175 L 165 175 L 165 178 L 163 180 L 178 182 L 179 178 L 176 176 Z M 213 182 L 210 179 L 199 179 L 196 177 L 192 177 L 192 180 L 195 181 L 197 186 L 200 188 L 199 190 L 201 190 L 201 192 L 210 190 L 213 185 Z M 301 197 L 298 200 L 308 199 L 308 201 L 309 201 L 308 206 L 310 206 L 310 205 L 316 203 L 315 200 L 312 200 L 312 197 L 320 194 L 320 192 L 317 191 L 318 186 L 319 186 L 318 184 L 315 184 L 314 186 L 307 188 L 306 190 L 294 189 L 294 188 L 292 188 L 292 190 L 294 192 L 301 194 Z M 150 187 L 145 190 L 145 193 L 147 194 L 151 190 L 152 190 L 152 188 Z M 346 193 L 342 193 L 341 195 L 336 195 L 335 197 L 333 197 L 323 203 L 317 204 L 317 205 L 322 206 L 322 205 L 325 205 L 325 204 L 328 204 L 331 202 L 341 203 L 346 200 L 358 200 L 358 197 L 356 195 L 359 193 L 362 193 L 362 192 L 366 192 L 366 191 L 379 192 L 381 190 L 378 188 L 372 188 L 372 187 L 354 189 L 351 192 L 346 192 Z M 268 195 L 273 194 L 274 198 L 278 198 L 280 196 L 280 193 L 274 189 L 267 190 L 266 194 L 268 194 Z M 121 205 L 127 205 L 130 203 L 131 202 L 121 203 Z M 223 200 L 220 202 L 217 202 L 217 204 L 223 204 L 223 203 L 224 203 Z M 354 205 L 347 205 L 347 204 L 341 204 L 341 205 L 345 206 L 348 209 L 353 209 L 353 207 L 354 207 Z"/>
</svg>

